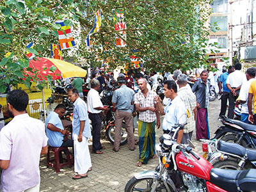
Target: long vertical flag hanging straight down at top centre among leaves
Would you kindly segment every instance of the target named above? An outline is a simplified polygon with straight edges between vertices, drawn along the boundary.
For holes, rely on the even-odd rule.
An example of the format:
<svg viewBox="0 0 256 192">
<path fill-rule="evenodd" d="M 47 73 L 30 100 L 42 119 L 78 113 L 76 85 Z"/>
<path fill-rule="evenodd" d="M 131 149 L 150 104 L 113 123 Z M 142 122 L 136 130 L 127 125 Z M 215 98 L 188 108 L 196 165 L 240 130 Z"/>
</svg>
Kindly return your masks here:
<svg viewBox="0 0 256 192">
<path fill-rule="evenodd" d="M 125 15 L 124 9 L 112 10 L 114 13 L 114 22 L 115 22 L 115 31 L 116 33 L 116 46 L 117 47 L 125 47 L 126 40 L 126 32 L 122 31 L 122 29 L 126 29 L 126 22 L 124 22 Z M 120 31 L 121 30 L 121 31 Z"/>
</svg>

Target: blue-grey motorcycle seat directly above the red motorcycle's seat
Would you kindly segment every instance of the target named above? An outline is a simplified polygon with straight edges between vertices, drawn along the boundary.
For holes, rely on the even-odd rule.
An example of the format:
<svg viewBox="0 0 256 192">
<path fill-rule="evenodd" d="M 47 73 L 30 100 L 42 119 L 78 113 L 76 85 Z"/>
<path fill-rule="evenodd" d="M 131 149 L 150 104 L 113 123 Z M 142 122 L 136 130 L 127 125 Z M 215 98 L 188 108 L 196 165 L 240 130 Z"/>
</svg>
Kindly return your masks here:
<svg viewBox="0 0 256 192">
<path fill-rule="evenodd" d="M 229 154 L 234 154 L 236 156 L 244 157 L 247 154 L 249 161 L 256 161 L 256 149 L 255 148 L 245 148 L 237 143 L 229 143 L 226 141 L 218 141 L 218 150 L 221 152 L 227 152 Z"/>
</svg>

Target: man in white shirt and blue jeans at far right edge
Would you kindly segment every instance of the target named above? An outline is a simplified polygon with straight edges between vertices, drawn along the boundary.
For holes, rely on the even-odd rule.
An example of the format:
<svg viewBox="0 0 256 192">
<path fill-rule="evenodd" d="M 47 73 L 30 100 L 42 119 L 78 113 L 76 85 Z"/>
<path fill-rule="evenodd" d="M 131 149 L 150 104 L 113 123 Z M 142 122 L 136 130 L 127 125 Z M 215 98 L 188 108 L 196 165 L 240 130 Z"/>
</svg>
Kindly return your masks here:
<svg viewBox="0 0 256 192">
<path fill-rule="evenodd" d="M 255 81 L 255 72 L 256 68 L 255 67 L 250 67 L 246 70 L 246 79 L 247 81 L 243 83 L 240 89 L 239 93 L 239 100 L 236 100 L 236 104 L 242 105 L 242 115 L 241 115 L 241 122 L 244 122 L 246 124 L 249 123 L 248 116 L 249 116 L 249 111 L 248 111 L 248 105 L 247 105 L 247 100 L 248 100 L 248 92 L 250 89 L 250 84 L 252 81 Z"/>
</svg>

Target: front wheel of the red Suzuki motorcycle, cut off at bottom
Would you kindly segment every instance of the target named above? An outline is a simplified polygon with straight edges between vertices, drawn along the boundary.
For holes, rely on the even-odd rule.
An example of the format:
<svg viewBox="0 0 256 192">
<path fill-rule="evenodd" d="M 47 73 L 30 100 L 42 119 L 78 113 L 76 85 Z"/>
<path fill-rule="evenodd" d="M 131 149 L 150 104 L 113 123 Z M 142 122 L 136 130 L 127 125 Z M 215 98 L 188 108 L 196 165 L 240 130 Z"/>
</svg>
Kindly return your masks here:
<svg viewBox="0 0 256 192">
<path fill-rule="evenodd" d="M 126 186 L 124 191 L 125 192 L 131 192 L 131 191 L 151 191 L 152 189 L 152 184 L 154 184 L 154 177 L 151 178 L 142 178 L 142 179 L 136 179 L 135 177 L 132 177 L 132 179 L 130 179 Z M 168 188 L 173 192 L 175 191 L 172 188 L 172 185 L 169 183 L 169 181 L 166 181 L 166 184 L 168 185 Z M 161 182 L 157 188 L 156 188 L 157 192 L 160 191 L 168 191 L 166 189 L 166 186 L 164 186 L 164 183 Z"/>
</svg>

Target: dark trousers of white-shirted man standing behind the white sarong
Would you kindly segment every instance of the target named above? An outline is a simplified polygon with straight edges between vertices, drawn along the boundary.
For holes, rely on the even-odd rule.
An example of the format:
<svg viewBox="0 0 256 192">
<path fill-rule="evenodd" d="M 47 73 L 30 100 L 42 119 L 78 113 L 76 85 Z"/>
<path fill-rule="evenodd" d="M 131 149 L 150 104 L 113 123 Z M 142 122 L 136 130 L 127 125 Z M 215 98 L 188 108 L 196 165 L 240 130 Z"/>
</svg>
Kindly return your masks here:
<svg viewBox="0 0 256 192">
<path fill-rule="evenodd" d="M 89 113 L 89 118 L 92 121 L 92 151 L 95 152 L 101 149 L 101 118 L 99 113 Z"/>
</svg>

